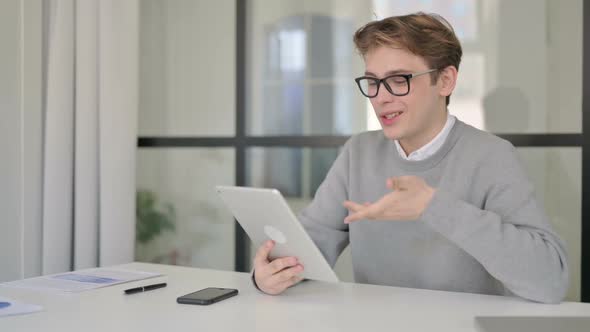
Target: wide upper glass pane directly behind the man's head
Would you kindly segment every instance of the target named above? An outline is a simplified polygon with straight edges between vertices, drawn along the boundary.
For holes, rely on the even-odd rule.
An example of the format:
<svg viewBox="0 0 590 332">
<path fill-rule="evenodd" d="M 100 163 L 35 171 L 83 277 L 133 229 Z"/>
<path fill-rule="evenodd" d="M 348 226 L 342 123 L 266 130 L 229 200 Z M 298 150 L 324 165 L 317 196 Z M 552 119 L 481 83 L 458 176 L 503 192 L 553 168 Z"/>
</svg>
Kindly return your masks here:
<svg viewBox="0 0 590 332">
<path fill-rule="evenodd" d="M 495 133 L 581 132 L 582 0 L 280 0 L 272 5 L 252 0 L 248 134 L 348 135 L 379 129 L 353 81 L 364 64 L 352 34 L 375 17 L 416 11 L 440 13 L 461 40 L 451 113 Z M 289 84 L 301 93 L 296 105 L 267 102 L 280 98 L 272 87 Z M 282 126 L 294 113 L 296 130 Z"/>
</svg>

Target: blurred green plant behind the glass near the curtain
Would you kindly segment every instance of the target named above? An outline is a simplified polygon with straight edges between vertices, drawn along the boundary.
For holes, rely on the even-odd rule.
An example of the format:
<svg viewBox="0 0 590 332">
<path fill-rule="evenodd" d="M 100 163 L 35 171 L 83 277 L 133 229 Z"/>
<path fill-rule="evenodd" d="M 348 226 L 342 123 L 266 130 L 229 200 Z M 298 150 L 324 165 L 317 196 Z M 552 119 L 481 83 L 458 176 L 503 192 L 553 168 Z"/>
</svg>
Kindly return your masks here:
<svg viewBox="0 0 590 332">
<path fill-rule="evenodd" d="M 159 209 L 157 200 L 156 194 L 150 190 L 137 191 L 135 239 L 138 243 L 146 244 L 166 230 L 175 230 L 174 207 L 168 203 Z"/>
</svg>

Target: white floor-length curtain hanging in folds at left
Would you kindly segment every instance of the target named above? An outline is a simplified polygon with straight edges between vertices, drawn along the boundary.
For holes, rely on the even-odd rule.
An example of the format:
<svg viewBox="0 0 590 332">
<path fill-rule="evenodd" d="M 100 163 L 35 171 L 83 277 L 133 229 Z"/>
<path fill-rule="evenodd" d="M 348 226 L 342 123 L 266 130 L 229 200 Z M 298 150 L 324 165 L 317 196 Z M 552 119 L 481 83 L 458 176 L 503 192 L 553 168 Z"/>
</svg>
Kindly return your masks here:
<svg viewBox="0 0 590 332">
<path fill-rule="evenodd" d="M 44 2 L 42 273 L 133 261 L 138 0 Z"/>
</svg>

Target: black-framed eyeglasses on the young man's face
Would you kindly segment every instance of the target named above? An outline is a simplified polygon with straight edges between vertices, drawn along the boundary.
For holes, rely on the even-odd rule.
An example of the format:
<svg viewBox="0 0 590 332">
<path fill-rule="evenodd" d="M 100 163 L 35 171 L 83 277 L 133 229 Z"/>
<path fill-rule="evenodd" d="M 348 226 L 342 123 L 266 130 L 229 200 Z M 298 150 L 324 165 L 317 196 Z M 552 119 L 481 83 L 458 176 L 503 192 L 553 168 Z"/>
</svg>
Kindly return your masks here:
<svg viewBox="0 0 590 332">
<path fill-rule="evenodd" d="M 379 86 L 383 83 L 385 89 L 394 96 L 405 96 L 410 93 L 410 79 L 420 75 L 432 73 L 438 69 L 430 69 L 412 74 L 395 74 L 384 78 L 362 76 L 355 78 L 361 93 L 367 98 L 375 98 L 379 93 Z"/>
</svg>

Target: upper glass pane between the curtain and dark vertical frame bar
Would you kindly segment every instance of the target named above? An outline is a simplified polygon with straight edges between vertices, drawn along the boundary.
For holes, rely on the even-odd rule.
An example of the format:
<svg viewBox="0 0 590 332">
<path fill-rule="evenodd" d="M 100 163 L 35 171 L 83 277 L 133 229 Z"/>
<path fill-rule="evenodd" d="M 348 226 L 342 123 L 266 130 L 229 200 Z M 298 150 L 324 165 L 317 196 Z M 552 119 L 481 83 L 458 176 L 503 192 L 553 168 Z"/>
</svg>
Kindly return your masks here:
<svg viewBox="0 0 590 332">
<path fill-rule="evenodd" d="M 234 0 L 140 1 L 140 136 L 235 134 L 235 10 Z"/>
</svg>

